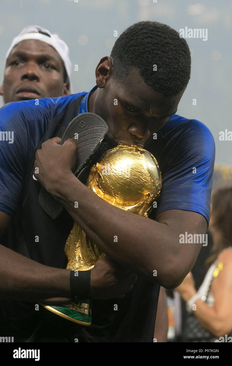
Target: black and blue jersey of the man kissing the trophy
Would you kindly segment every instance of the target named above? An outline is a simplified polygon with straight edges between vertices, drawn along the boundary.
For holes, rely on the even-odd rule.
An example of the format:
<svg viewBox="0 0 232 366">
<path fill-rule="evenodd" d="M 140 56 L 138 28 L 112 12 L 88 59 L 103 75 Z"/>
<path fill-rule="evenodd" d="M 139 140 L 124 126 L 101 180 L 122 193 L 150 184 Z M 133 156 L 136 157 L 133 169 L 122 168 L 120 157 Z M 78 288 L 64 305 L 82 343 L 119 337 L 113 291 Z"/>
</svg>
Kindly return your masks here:
<svg viewBox="0 0 232 366">
<path fill-rule="evenodd" d="M 32 179 L 35 152 L 43 138 L 61 137 L 68 123 L 87 111 L 82 103 L 87 106 L 88 96 L 80 105 L 84 94 L 39 99 L 38 105 L 34 100 L 13 102 L 0 109 L 0 210 L 13 216 L 1 244 L 55 268 L 66 268 L 64 247 L 73 219 L 63 210 L 53 220 L 40 207 L 40 183 Z M 163 180 L 150 217 L 181 209 L 198 212 L 209 222 L 214 141 L 208 128 L 173 115 L 144 147 L 156 157 Z M 159 285 L 138 276 L 123 299 L 92 300 L 92 324 L 87 327 L 46 309 L 35 311 L 33 303 L 0 300 L 0 333 L 20 342 L 152 342 L 158 296 Z"/>
</svg>

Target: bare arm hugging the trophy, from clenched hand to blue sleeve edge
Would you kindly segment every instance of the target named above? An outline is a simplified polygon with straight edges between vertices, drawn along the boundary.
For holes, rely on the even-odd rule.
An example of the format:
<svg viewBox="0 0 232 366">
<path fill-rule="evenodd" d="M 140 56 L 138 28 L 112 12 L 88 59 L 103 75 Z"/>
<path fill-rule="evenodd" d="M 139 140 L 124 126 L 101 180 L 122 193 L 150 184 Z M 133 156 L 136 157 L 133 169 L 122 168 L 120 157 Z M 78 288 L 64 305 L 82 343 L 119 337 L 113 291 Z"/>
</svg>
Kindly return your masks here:
<svg viewBox="0 0 232 366">
<path fill-rule="evenodd" d="M 54 137 L 42 144 L 35 157 L 38 171 L 35 169 L 34 174 L 39 182 L 98 248 L 162 287 L 174 288 L 183 281 L 196 261 L 201 240 L 183 245 L 179 235 L 205 233 L 207 221 L 201 214 L 167 209 L 151 220 L 110 205 L 72 173 L 77 159 L 72 139 L 60 145 L 60 138 Z"/>
</svg>

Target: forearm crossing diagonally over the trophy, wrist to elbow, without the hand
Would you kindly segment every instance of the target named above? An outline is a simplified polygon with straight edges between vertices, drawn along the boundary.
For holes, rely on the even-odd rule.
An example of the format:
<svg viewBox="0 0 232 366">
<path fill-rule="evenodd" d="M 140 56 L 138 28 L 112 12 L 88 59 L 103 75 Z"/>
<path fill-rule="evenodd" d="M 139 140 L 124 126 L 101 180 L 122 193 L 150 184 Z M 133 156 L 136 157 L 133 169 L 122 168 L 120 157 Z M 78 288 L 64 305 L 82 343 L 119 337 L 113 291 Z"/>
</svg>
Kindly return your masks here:
<svg viewBox="0 0 232 366">
<path fill-rule="evenodd" d="M 73 174 L 59 183 L 55 196 L 104 253 L 152 282 L 167 278 L 174 243 L 167 225 L 110 205 Z"/>
</svg>

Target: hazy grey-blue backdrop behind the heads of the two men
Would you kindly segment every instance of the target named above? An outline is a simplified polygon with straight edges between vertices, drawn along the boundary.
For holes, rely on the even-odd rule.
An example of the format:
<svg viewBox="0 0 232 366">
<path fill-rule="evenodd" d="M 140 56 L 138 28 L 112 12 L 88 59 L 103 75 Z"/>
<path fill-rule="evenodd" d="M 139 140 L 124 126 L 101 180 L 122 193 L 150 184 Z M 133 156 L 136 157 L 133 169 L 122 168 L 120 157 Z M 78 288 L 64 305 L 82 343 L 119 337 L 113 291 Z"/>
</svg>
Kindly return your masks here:
<svg viewBox="0 0 232 366">
<path fill-rule="evenodd" d="M 69 46 L 74 93 L 88 91 L 95 85 L 95 68 L 101 57 L 110 55 L 116 40 L 115 30 L 119 36 L 139 20 L 156 20 L 177 31 L 185 26 L 207 28 L 207 41 L 187 39 L 192 53 L 192 74 L 177 113 L 205 123 L 216 143 L 216 163 L 231 165 L 232 141 L 219 141 L 220 131 L 232 130 L 231 14 L 230 0 L 201 3 L 186 0 L 157 0 L 157 3 L 153 0 L 1 0 L 0 70 L 3 74 L 5 54 L 13 37 L 30 24 L 58 33 Z M 75 64 L 78 71 L 74 71 Z M 193 98 L 197 105 L 192 105 Z M 0 107 L 2 105 L 1 100 Z"/>
</svg>

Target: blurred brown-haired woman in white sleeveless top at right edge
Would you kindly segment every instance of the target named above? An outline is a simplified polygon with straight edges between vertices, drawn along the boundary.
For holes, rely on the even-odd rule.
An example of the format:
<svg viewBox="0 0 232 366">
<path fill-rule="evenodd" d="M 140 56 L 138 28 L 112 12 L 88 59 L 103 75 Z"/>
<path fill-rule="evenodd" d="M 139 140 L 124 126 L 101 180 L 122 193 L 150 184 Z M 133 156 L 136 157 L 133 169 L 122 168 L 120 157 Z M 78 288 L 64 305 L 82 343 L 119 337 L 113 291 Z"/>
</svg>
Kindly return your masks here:
<svg viewBox="0 0 232 366">
<path fill-rule="evenodd" d="M 232 187 L 212 194 L 209 230 L 212 251 L 198 291 L 190 272 L 175 290 L 192 314 L 183 329 L 185 342 L 228 341 L 232 336 Z M 222 337 L 222 338 L 220 338 Z M 231 338 L 232 339 L 232 338 Z"/>
</svg>

